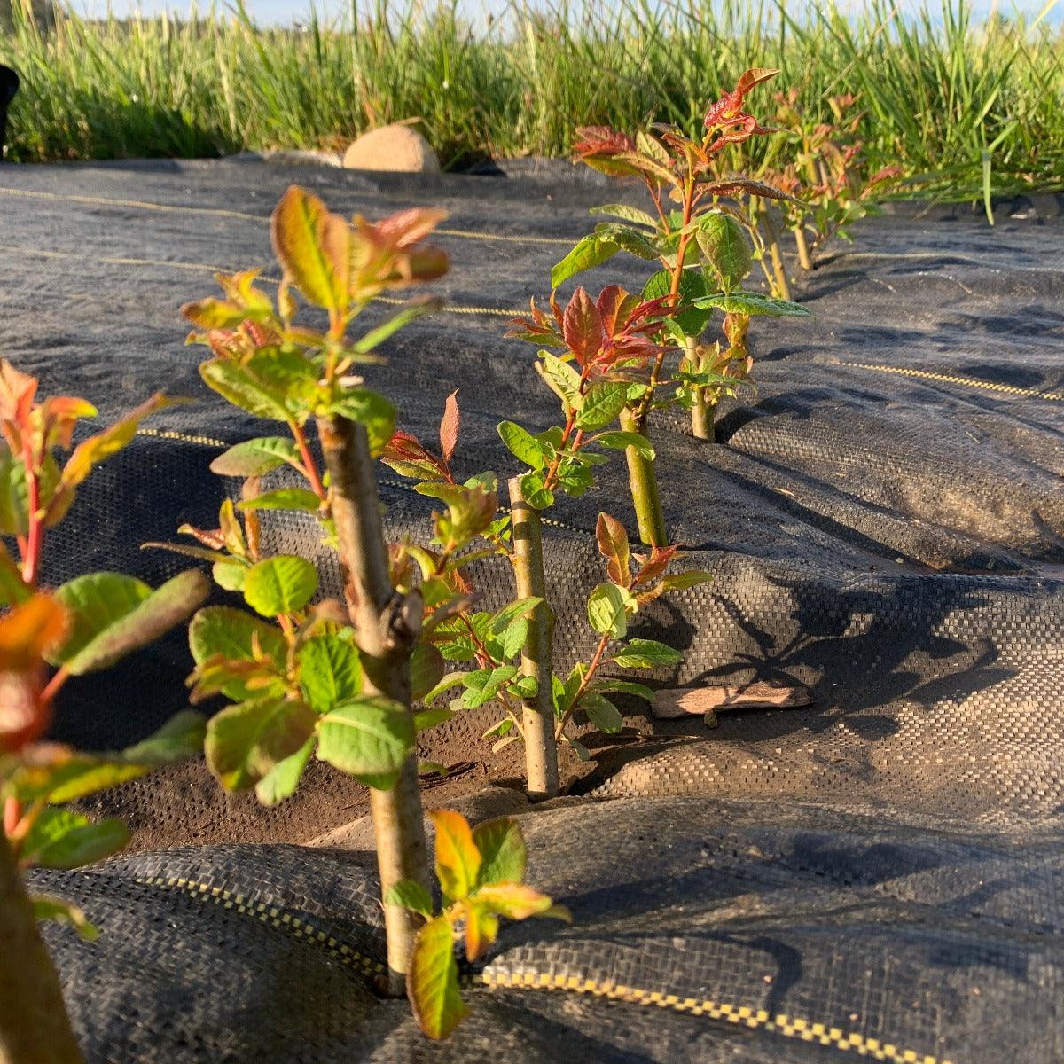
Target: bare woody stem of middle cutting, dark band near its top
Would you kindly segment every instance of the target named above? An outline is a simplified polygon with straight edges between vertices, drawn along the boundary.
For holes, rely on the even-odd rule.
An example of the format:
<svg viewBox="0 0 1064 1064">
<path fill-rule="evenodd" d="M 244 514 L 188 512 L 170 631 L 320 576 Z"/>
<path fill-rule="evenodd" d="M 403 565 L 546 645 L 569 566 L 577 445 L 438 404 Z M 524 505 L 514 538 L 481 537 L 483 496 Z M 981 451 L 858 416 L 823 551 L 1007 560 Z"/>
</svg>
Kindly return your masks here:
<svg viewBox="0 0 1064 1064">
<path fill-rule="evenodd" d="M 551 687 L 551 637 L 554 616 L 547 603 L 543 571 L 543 532 L 539 513 L 525 501 L 521 479 L 510 481 L 513 514 L 514 576 L 518 598 L 541 598 L 532 613 L 528 638 L 521 650 L 521 674 L 536 681 L 533 698 L 522 699 L 525 770 L 530 798 L 558 794 L 558 747 L 554 739 L 554 699 Z"/>
</svg>

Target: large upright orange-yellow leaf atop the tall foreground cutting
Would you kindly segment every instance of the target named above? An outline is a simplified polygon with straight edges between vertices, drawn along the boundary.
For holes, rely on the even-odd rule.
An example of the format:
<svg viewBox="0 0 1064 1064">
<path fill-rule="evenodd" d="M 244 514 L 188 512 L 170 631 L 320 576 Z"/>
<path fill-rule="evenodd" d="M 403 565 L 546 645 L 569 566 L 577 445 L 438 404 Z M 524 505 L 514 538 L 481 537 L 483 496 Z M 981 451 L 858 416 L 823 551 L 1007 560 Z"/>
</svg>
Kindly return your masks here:
<svg viewBox="0 0 1064 1064">
<path fill-rule="evenodd" d="M 344 218 L 292 185 L 273 211 L 270 236 L 285 278 L 310 302 L 335 313 L 347 310 L 351 228 Z"/>
</svg>

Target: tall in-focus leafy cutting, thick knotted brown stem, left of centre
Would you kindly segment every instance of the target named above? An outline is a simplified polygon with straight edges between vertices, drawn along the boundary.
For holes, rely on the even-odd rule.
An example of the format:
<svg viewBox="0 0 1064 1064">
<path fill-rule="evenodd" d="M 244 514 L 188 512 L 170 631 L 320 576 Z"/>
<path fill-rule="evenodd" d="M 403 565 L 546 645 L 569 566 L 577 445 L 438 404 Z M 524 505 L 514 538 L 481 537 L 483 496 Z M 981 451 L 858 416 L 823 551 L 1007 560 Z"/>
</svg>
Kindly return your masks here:
<svg viewBox="0 0 1064 1064">
<path fill-rule="evenodd" d="M 438 496 L 445 509 L 433 515 L 432 549 L 386 542 L 373 462 L 394 437 L 396 411 L 354 371 L 380 362 L 379 345 L 439 303 L 415 299 L 358 336 L 351 328 L 382 293 L 447 270 L 446 254 L 425 243 L 443 217 L 411 210 L 376 223 L 348 221 L 292 187 L 271 223 L 283 269 L 276 304 L 251 270 L 219 277 L 223 298 L 184 307 L 198 330 L 190 340 L 211 350 L 203 380 L 286 434 L 245 440 L 219 455 L 212 468 L 243 482 L 238 501 L 222 503 L 216 529 L 183 528 L 195 544 L 169 547 L 211 562 L 217 583 L 239 593 L 251 611 L 207 606 L 189 626 L 193 700 L 222 695 L 232 702 L 207 725 L 207 763 L 225 787 L 254 787 L 266 804 L 292 795 L 315 755 L 370 788 L 387 936 L 384 988 L 405 988 L 432 1036 L 446 1034 L 461 1010 L 453 1005 L 451 937 L 442 933 L 444 924 L 425 922 L 432 883 L 416 738 L 440 718 L 415 704 L 443 677 L 435 633 L 468 612 L 462 567 L 472 541 L 493 535 L 496 495 L 489 480 L 449 485 Z M 297 294 L 326 312 L 325 328 L 297 321 Z M 445 454 L 451 435 L 445 426 Z M 264 488 L 264 477 L 275 486 Z M 319 598 L 314 562 L 264 547 L 260 515 L 271 510 L 317 521 L 322 545 L 339 558 L 344 602 Z M 499 620 L 502 629 L 528 609 L 518 603 Z M 512 654 L 519 649 L 511 647 Z M 508 830 L 514 846 L 520 833 Z M 440 844 L 437 832 L 445 895 L 483 909 L 483 944 L 494 940 L 499 915 L 520 919 L 550 910 L 549 898 L 517 882 L 513 861 L 485 862 L 460 897 L 445 881 L 450 864 Z M 497 867 L 510 878 L 496 878 Z M 531 903 L 533 896 L 541 900 Z M 427 970 L 435 976 L 425 978 Z"/>
</svg>

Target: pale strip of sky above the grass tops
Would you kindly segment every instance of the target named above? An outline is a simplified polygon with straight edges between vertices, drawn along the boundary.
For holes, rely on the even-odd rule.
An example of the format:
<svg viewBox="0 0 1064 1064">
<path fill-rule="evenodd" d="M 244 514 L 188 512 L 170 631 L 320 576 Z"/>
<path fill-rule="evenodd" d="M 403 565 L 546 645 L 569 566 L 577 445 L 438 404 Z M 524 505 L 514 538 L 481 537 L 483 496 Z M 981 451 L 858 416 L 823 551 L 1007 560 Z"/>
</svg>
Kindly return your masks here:
<svg viewBox="0 0 1064 1064">
<path fill-rule="evenodd" d="M 119 16 L 128 15 L 134 11 L 140 11 L 145 14 L 159 13 L 164 7 L 184 16 L 188 13 L 190 2 L 192 0 L 110 0 L 110 7 Z M 216 0 L 216 2 L 219 7 L 227 6 L 225 0 Z M 534 0 L 531 2 L 534 6 Z M 601 3 L 603 0 L 598 0 L 598 2 Z M 925 3 L 928 6 L 936 7 L 940 2 L 941 0 L 898 0 L 898 9 L 901 14 L 904 14 L 907 11 L 919 10 Z M 402 0 L 398 0 L 398 3 L 401 5 Z M 201 11 L 209 7 L 210 4 L 211 0 L 199 0 L 198 2 Z M 854 13 L 864 6 L 860 0 L 837 0 L 837 4 L 841 7 L 852 7 Z M 264 26 L 290 26 L 293 22 L 305 19 L 310 11 L 310 0 L 246 0 L 246 5 L 255 21 Z M 373 0 L 362 0 L 360 4 L 366 10 L 371 9 L 372 5 Z M 488 13 L 498 15 L 505 11 L 510 6 L 510 2 L 509 0 L 459 0 L 459 5 L 460 10 L 475 22 L 481 22 Z M 80 0 L 80 2 L 76 0 L 76 6 L 87 15 L 98 16 L 105 13 L 109 3 L 105 0 Z M 325 7 L 328 12 L 337 15 L 349 14 L 351 0 L 325 0 L 325 3 L 318 0 L 317 6 L 319 10 Z M 1003 0 L 1003 2 L 972 0 L 970 6 L 977 18 L 985 17 L 992 10 L 997 10 L 1005 15 L 1018 12 L 1026 15 L 1028 19 L 1032 19 L 1037 17 L 1043 7 L 1046 6 L 1046 0 Z M 1053 23 L 1064 21 L 1064 0 L 1058 0 L 1048 18 Z"/>
</svg>

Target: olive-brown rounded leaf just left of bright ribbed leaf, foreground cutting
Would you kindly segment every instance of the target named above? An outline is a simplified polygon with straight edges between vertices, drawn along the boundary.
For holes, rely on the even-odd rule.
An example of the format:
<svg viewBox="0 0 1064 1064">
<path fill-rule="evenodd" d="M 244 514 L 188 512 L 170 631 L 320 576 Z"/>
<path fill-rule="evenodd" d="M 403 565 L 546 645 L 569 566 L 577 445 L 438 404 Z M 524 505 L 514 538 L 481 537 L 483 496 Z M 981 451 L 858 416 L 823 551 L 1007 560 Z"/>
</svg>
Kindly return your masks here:
<svg viewBox="0 0 1064 1064">
<path fill-rule="evenodd" d="M 246 791 L 313 735 L 314 711 L 286 698 L 230 705 L 206 726 L 203 752 L 227 791 Z"/>
</svg>

